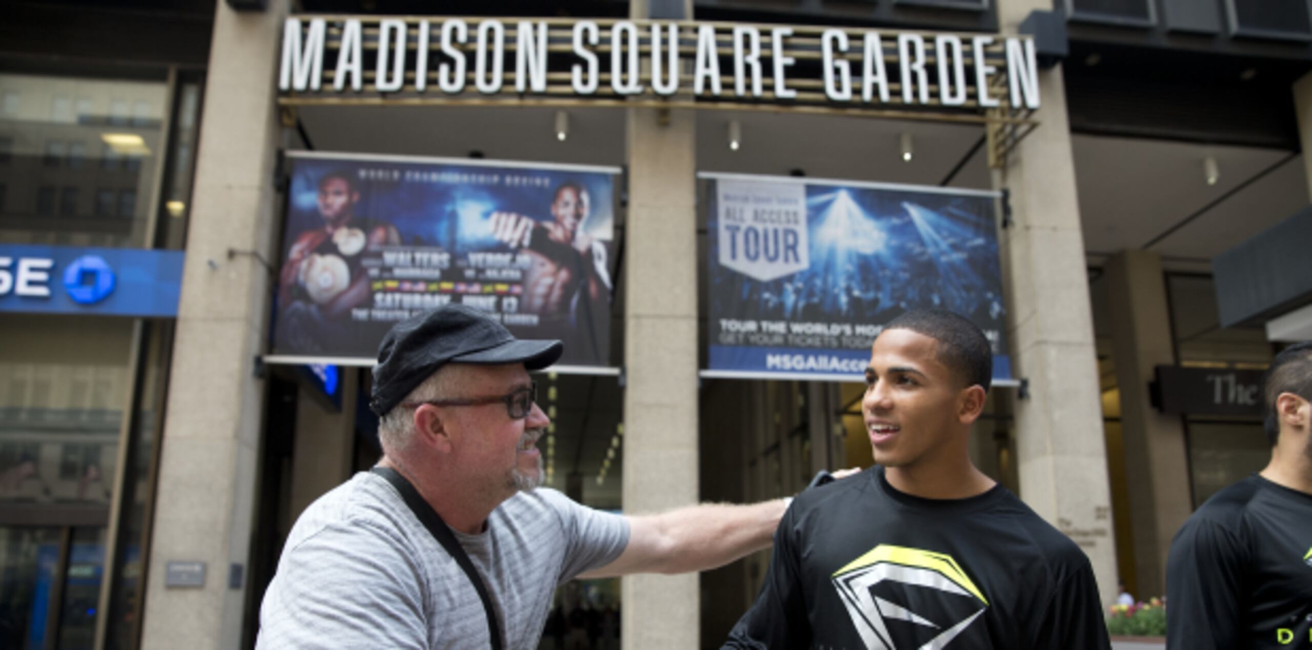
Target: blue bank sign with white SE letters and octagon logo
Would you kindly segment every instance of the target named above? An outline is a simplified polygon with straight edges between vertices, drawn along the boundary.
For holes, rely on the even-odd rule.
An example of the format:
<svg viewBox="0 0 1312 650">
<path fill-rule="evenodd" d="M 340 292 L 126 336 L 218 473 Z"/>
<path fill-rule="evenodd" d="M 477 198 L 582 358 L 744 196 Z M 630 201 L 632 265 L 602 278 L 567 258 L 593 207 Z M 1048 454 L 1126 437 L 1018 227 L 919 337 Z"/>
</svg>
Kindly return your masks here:
<svg viewBox="0 0 1312 650">
<path fill-rule="evenodd" d="M 0 311 L 177 315 L 180 251 L 0 246 Z"/>
</svg>

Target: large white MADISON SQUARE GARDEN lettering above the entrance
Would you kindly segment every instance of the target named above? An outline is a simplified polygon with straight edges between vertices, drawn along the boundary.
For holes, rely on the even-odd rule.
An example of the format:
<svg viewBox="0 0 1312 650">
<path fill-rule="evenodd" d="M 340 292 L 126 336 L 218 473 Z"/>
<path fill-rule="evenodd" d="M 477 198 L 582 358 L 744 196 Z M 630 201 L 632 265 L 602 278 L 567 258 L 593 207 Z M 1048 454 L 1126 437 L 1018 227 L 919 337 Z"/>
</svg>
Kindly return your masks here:
<svg viewBox="0 0 1312 650">
<path fill-rule="evenodd" d="M 510 92 L 504 77 L 513 75 L 513 92 L 521 96 L 556 96 L 564 89 L 577 96 L 672 97 L 681 89 L 687 92 L 682 71 L 690 63 L 695 98 L 762 98 L 769 75 L 770 100 L 790 102 L 981 110 L 1005 101 L 1013 110 L 1039 108 L 1038 63 L 1034 41 L 1027 37 L 810 26 L 774 26 L 762 34 L 753 25 L 628 20 L 562 25 L 497 18 L 479 21 L 470 34 L 464 20 L 438 22 L 346 17 L 329 25 L 327 18 L 289 17 L 278 89 L 299 95 L 342 93 L 348 88 L 429 93 L 436 87 L 441 93 L 459 95 L 472 68 L 474 87 L 483 95 Z M 508 32 L 513 34 L 508 37 Z M 816 39 L 819 70 L 796 67 L 798 60 L 816 55 Z M 415 55 L 408 55 L 412 49 Z M 505 60 L 508 49 L 514 50 L 510 62 Z M 609 62 L 601 58 L 605 54 Z M 336 64 L 324 70 L 328 56 L 336 56 Z M 722 56 L 729 59 L 723 63 L 731 66 L 723 71 L 728 76 L 722 76 Z M 887 56 L 896 60 L 891 70 Z M 505 63 L 512 63 L 509 70 Z M 366 64 L 373 68 L 367 77 Z M 437 71 L 436 84 L 429 83 L 429 70 Z M 569 74 L 554 80 L 550 70 Z M 1006 88 L 1000 84 L 991 95 L 998 75 L 1005 75 Z M 609 91 L 600 91 L 607 81 Z M 729 84 L 732 88 L 726 88 Z M 892 98 L 900 101 L 891 100 L 890 88 L 900 91 L 900 97 Z"/>
</svg>

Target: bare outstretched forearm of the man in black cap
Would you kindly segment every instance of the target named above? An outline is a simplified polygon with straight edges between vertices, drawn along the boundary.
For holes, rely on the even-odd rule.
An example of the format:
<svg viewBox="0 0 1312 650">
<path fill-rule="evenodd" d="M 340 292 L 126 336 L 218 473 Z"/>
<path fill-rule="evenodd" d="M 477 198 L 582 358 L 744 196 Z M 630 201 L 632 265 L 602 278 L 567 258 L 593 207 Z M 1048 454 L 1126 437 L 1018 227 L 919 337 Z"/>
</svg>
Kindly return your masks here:
<svg viewBox="0 0 1312 650">
<path fill-rule="evenodd" d="M 702 504 L 660 515 L 630 516 L 628 544 L 614 562 L 580 578 L 681 574 L 727 565 L 770 545 L 783 499 L 752 506 Z"/>
</svg>

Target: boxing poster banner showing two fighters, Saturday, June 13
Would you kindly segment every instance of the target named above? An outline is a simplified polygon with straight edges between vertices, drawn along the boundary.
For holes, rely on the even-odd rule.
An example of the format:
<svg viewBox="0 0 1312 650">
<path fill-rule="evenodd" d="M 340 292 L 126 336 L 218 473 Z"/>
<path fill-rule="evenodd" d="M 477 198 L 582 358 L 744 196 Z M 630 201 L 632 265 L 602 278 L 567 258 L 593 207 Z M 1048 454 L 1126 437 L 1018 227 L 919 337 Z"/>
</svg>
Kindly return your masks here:
<svg viewBox="0 0 1312 650">
<path fill-rule="evenodd" d="M 619 168 L 294 152 L 274 355 L 373 360 L 447 303 L 609 365 Z"/>
</svg>

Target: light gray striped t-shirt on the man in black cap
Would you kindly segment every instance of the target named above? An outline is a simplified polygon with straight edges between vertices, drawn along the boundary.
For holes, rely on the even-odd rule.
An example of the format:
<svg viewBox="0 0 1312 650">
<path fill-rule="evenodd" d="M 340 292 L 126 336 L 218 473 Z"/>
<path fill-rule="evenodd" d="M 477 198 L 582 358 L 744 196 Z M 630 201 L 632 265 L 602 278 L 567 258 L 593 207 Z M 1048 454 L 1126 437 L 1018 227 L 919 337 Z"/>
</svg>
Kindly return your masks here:
<svg viewBox="0 0 1312 650">
<path fill-rule="evenodd" d="M 496 607 L 506 649 L 537 647 L 558 584 L 614 561 L 628 523 L 565 495 L 518 492 L 480 534 L 455 532 Z M 377 474 L 319 498 L 291 528 L 260 608 L 257 649 L 488 647 L 470 579 Z"/>
</svg>

